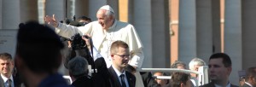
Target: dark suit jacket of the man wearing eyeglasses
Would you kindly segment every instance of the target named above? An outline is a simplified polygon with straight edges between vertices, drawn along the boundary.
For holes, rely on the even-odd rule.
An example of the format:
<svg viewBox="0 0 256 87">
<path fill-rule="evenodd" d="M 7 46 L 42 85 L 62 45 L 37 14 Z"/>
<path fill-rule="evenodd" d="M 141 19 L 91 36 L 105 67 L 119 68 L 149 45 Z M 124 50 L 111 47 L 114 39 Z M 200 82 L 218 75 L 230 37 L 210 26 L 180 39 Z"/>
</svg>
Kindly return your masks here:
<svg viewBox="0 0 256 87">
<path fill-rule="evenodd" d="M 117 73 L 114 72 L 113 67 L 108 68 L 108 72 L 110 73 L 110 78 L 113 83 L 113 87 L 121 87 L 121 84 L 119 82 L 119 77 Z M 136 78 L 133 74 L 129 72 L 125 72 L 129 87 L 135 87 Z"/>
</svg>

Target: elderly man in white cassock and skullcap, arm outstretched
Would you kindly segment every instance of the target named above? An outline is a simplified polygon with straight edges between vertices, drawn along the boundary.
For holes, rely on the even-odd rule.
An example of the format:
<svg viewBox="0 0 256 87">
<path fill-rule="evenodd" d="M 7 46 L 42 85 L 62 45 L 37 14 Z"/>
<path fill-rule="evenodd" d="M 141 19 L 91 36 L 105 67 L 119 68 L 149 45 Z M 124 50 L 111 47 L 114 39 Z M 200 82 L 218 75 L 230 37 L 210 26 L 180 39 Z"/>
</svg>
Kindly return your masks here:
<svg viewBox="0 0 256 87">
<path fill-rule="evenodd" d="M 62 24 L 55 19 L 55 15 L 52 17 L 46 15 L 44 20 L 47 24 L 55 26 L 55 32 L 65 38 L 71 38 L 76 33 L 80 35 L 89 34 L 94 40 L 95 48 L 104 57 L 108 67 L 112 64 L 109 55 L 111 44 L 117 40 L 124 41 L 130 46 L 131 60 L 129 64 L 135 68 L 142 67 L 144 59 L 143 44 L 134 26 L 116 20 L 114 11 L 109 5 L 102 6 L 97 11 L 96 17 L 96 21 L 79 27 Z"/>
</svg>

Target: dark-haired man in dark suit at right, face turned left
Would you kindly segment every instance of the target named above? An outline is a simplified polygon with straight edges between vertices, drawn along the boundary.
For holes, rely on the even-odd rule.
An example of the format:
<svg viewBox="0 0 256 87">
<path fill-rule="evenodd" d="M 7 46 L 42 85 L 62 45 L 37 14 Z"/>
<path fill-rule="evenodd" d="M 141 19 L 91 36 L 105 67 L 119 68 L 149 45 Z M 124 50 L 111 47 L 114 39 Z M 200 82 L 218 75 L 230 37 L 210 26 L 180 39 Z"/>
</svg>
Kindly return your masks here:
<svg viewBox="0 0 256 87">
<path fill-rule="evenodd" d="M 209 77 L 211 83 L 204 84 L 201 87 L 238 87 L 229 81 L 232 71 L 230 56 L 224 53 L 216 53 L 209 59 Z"/>
</svg>

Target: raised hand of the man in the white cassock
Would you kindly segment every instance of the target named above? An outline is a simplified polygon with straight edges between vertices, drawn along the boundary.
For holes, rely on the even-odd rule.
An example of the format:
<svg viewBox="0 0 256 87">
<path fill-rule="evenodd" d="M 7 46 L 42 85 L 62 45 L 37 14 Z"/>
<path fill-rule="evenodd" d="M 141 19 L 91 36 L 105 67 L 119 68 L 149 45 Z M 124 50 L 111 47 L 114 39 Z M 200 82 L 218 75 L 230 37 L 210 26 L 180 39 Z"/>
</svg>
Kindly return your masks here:
<svg viewBox="0 0 256 87">
<path fill-rule="evenodd" d="M 45 23 L 47 23 L 50 26 L 58 26 L 58 20 L 55 19 L 55 14 L 52 15 L 52 17 L 50 17 L 49 15 L 46 15 L 44 17 Z"/>
</svg>

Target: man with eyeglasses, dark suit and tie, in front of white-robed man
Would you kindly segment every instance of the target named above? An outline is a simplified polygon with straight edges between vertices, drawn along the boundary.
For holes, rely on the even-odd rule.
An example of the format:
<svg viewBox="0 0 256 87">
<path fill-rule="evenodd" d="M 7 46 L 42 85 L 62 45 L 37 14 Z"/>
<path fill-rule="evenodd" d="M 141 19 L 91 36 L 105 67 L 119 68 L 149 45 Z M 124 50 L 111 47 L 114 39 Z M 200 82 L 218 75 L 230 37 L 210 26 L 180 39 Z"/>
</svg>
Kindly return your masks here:
<svg viewBox="0 0 256 87">
<path fill-rule="evenodd" d="M 114 87 L 135 87 L 136 78 L 133 74 L 126 72 L 125 67 L 130 60 L 129 46 L 123 41 L 115 41 L 111 44 L 110 56 L 112 66 L 108 68 Z"/>
</svg>

